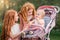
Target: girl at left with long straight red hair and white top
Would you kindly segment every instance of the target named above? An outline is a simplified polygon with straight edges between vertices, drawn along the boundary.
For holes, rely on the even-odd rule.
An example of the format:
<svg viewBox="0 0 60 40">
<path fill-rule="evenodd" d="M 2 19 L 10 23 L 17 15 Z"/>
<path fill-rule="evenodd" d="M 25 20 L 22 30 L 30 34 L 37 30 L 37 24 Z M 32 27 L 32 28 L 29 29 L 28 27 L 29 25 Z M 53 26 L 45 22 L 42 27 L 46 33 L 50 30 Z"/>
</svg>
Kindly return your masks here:
<svg viewBox="0 0 60 40">
<path fill-rule="evenodd" d="M 4 16 L 2 39 L 1 40 L 20 40 L 18 33 L 20 32 L 18 14 L 15 10 L 8 10 Z"/>
</svg>

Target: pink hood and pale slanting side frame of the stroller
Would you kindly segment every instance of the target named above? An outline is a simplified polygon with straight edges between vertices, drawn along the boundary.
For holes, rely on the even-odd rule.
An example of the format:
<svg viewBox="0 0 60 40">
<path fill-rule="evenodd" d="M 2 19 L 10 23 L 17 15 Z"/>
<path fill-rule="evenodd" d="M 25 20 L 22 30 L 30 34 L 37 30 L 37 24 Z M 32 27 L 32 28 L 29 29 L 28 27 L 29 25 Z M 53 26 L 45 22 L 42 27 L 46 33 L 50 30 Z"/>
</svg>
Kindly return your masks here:
<svg viewBox="0 0 60 40">
<path fill-rule="evenodd" d="M 44 40 L 50 40 L 50 32 L 51 30 L 55 27 L 55 22 L 56 22 L 56 16 L 57 13 L 60 11 L 60 8 L 58 6 L 48 6 L 48 5 L 44 5 L 44 6 L 40 6 L 37 10 L 50 10 L 53 9 L 54 12 L 54 17 L 50 20 L 50 22 L 47 24 L 46 28 L 45 28 L 45 39 Z"/>
</svg>

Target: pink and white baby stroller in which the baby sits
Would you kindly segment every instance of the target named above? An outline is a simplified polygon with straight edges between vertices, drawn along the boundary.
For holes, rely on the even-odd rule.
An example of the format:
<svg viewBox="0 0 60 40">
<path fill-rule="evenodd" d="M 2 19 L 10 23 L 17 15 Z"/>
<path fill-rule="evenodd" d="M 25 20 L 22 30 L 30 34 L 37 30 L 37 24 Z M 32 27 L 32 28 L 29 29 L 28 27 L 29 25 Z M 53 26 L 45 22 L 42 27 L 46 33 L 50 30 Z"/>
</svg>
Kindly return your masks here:
<svg viewBox="0 0 60 40">
<path fill-rule="evenodd" d="M 47 6 L 47 5 L 40 6 L 37 10 L 41 9 L 43 9 L 46 13 L 44 17 L 45 29 L 42 27 L 40 27 L 39 29 L 32 29 L 34 28 L 32 27 L 31 29 L 25 30 L 24 37 L 22 37 L 23 38 L 22 40 L 50 40 L 49 35 L 51 30 L 55 27 L 56 15 L 60 10 L 59 7 L 57 6 Z M 50 13 L 49 17 L 47 17 L 48 13 Z"/>
</svg>

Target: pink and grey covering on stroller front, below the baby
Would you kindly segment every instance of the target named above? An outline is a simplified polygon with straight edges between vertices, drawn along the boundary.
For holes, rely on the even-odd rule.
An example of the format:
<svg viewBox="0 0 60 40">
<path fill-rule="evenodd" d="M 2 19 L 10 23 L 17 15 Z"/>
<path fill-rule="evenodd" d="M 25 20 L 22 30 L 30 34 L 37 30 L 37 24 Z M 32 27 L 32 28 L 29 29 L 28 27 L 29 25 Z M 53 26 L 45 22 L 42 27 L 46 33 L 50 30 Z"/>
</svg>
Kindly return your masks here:
<svg viewBox="0 0 60 40">
<path fill-rule="evenodd" d="M 42 38 L 44 35 L 44 29 L 40 26 L 37 25 L 31 25 L 28 30 L 24 31 L 24 35 L 22 36 L 23 38 L 36 38 L 40 37 Z"/>
</svg>

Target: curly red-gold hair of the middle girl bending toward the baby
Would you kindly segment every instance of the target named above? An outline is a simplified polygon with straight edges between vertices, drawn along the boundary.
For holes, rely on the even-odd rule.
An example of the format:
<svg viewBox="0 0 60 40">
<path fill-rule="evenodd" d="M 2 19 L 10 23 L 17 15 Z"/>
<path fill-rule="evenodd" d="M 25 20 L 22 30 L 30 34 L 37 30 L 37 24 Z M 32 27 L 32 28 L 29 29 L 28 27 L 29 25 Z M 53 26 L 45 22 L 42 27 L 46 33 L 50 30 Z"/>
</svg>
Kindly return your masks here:
<svg viewBox="0 0 60 40">
<path fill-rule="evenodd" d="M 24 27 L 24 22 L 28 23 L 28 20 L 27 20 L 28 14 L 27 14 L 27 12 L 30 9 L 33 9 L 33 12 L 32 12 L 33 14 L 32 15 L 33 15 L 33 18 L 34 18 L 35 15 L 36 15 L 36 10 L 35 10 L 34 5 L 32 3 L 30 3 L 30 2 L 26 2 L 22 6 L 21 10 L 19 11 L 19 16 L 22 17 L 22 19 L 23 19 L 22 21 L 20 21 L 20 24 L 21 24 L 20 27 L 21 27 L 21 29 L 23 29 L 23 27 Z"/>
</svg>

